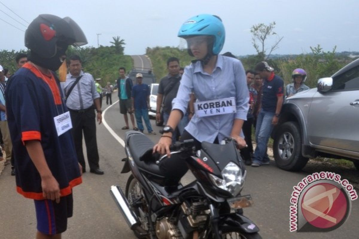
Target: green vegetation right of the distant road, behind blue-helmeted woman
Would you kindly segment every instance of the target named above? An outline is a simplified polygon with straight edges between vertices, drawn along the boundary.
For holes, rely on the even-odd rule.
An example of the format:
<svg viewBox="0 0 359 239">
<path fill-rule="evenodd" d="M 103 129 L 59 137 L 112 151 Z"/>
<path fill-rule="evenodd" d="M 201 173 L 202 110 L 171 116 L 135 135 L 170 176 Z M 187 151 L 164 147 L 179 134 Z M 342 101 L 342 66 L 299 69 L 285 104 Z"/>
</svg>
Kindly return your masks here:
<svg viewBox="0 0 359 239">
<path fill-rule="evenodd" d="M 313 88 L 316 87 L 319 78 L 330 77 L 345 64 L 353 61 L 349 57 L 339 57 L 335 52 L 336 47 L 328 52 L 323 51 L 320 45 L 311 49 L 310 54 L 270 58 L 268 62 L 275 68 L 275 73 L 283 78 L 285 85 L 292 82 L 292 72 L 295 68 L 303 68 L 308 74 L 306 85 Z M 188 55 L 186 49 L 180 50 L 175 47 L 147 48 L 146 54 L 152 61 L 157 82 L 168 73 L 166 62 L 169 57 L 180 59 L 181 67 L 187 66 L 194 59 Z M 262 61 L 261 56 L 258 55 L 238 58 L 242 61 L 245 70 L 253 69 L 258 62 Z"/>
</svg>

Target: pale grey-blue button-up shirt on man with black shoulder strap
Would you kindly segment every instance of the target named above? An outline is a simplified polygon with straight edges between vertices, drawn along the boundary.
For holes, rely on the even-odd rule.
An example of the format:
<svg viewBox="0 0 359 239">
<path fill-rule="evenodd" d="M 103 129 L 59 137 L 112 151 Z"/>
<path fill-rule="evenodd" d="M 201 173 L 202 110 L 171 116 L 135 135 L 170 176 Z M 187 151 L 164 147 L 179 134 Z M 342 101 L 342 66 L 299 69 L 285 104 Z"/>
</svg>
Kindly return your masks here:
<svg viewBox="0 0 359 239">
<path fill-rule="evenodd" d="M 96 90 L 95 81 L 89 73 L 80 72 L 81 79 L 70 92 L 66 106 L 71 110 L 84 110 L 92 106 L 93 100 L 100 97 Z M 66 82 L 61 82 L 65 95 L 76 81 L 75 76 L 70 73 L 66 75 Z"/>
</svg>

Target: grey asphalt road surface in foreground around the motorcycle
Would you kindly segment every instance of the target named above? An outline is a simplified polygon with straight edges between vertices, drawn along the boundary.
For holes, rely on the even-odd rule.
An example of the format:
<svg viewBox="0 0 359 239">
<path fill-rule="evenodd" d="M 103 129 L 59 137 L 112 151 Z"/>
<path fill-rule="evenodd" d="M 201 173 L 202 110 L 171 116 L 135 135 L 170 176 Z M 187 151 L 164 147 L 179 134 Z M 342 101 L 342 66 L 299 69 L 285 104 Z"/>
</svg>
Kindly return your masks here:
<svg viewBox="0 0 359 239">
<path fill-rule="evenodd" d="M 125 130 L 121 130 L 124 123 L 118 103 L 114 103 L 104 112 L 108 127 L 118 138 L 124 139 Z M 151 123 L 155 132 L 158 132 L 159 127 L 155 126 L 153 120 Z M 98 176 L 87 172 L 83 175 L 83 183 L 74 188 L 74 216 L 69 219 L 69 229 L 63 238 L 135 238 L 109 195 L 111 185 L 124 187 L 129 176 L 120 174 L 123 165 L 121 159 L 125 157 L 123 147 L 104 124 L 97 127 L 97 137 L 100 166 L 105 175 Z M 149 137 L 154 142 L 159 139 L 159 135 Z M 251 193 L 255 206 L 246 209 L 245 215 L 260 227 L 263 238 L 358 238 L 359 200 L 353 201 L 349 219 L 335 231 L 289 233 L 289 200 L 292 187 L 308 173 L 282 171 L 275 167 L 273 162 L 269 166 L 248 167 L 247 170 L 243 193 Z M 306 170 L 311 171 L 311 166 L 306 167 Z M 327 170 L 336 169 L 333 167 Z M 186 180 L 190 179 L 187 177 Z M 0 238 L 34 238 L 36 219 L 33 201 L 24 199 L 15 192 L 14 181 L 15 177 L 10 176 L 10 167 L 7 166 L 0 176 Z"/>
</svg>

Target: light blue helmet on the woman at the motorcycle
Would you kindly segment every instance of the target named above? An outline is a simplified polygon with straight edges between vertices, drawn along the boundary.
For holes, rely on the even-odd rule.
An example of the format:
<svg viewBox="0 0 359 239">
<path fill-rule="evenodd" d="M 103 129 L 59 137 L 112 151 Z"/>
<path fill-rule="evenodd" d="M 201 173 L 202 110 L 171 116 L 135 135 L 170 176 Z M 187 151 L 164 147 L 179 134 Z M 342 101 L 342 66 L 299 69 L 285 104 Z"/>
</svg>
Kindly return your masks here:
<svg viewBox="0 0 359 239">
<path fill-rule="evenodd" d="M 190 38 L 199 35 L 209 35 L 213 37 L 212 53 L 218 55 L 223 48 L 225 30 L 222 20 L 215 15 L 200 14 L 196 15 L 182 24 L 178 31 L 178 37 Z M 191 56 L 191 51 L 188 51 Z"/>
</svg>

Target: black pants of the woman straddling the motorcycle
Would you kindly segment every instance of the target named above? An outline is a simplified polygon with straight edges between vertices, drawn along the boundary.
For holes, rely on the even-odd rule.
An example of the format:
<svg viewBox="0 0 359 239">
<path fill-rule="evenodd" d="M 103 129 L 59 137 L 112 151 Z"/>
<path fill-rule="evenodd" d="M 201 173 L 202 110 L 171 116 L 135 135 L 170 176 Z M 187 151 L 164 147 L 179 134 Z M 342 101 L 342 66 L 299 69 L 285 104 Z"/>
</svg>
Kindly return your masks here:
<svg viewBox="0 0 359 239">
<path fill-rule="evenodd" d="M 190 133 L 185 130 L 181 135 L 181 140 L 193 139 L 195 143 L 196 150 L 200 150 L 201 142 L 195 139 Z M 218 144 L 218 138 L 214 140 L 215 144 Z M 161 170 L 161 175 L 167 178 L 167 185 L 176 185 L 181 178 L 186 174 L 188 171 L 188 167 L 186 164 L 186 155 L 174 154 L 171 158 L 164 159 L 159 168 Z"/>
</svg>

